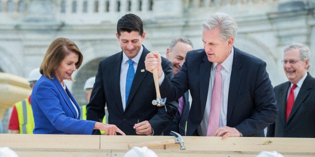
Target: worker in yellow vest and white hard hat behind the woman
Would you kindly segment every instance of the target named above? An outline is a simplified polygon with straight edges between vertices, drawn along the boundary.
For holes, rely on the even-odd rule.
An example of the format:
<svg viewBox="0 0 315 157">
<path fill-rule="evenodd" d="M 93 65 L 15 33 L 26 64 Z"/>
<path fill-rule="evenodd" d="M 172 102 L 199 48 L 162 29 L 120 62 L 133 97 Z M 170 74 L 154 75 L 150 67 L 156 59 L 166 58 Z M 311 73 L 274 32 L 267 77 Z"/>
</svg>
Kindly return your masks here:
<svg viewBox="0 0 315 157">
<path fill-rule="evenodd" d="M 28 77 L 30 87 L 33 89 L 35 82 L 42 76 L 39 68 L 33 69 Z M 31 95 L 13 106 L 9 121 L 11 133 L 28 133 L 33 134 L 34 117 L 31 106 Z"/>
</svg>

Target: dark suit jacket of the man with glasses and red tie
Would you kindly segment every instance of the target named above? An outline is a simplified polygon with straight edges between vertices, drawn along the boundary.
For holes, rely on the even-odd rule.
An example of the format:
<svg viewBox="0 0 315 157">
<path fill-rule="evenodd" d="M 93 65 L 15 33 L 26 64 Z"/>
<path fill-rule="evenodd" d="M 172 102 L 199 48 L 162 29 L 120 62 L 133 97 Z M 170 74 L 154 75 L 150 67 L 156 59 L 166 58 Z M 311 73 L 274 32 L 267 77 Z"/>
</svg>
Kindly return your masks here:
<svg viewBox="0 0 315 157">
<path fill-rule="evenodd" d="M 287 92 L 290 82 L 274 87 L 279 114 L 268 126 L 269 137 L 315 137 L 315 78 L 308 72 L 296 96 L 288 120 L 285 121 Z"/>
</svg>

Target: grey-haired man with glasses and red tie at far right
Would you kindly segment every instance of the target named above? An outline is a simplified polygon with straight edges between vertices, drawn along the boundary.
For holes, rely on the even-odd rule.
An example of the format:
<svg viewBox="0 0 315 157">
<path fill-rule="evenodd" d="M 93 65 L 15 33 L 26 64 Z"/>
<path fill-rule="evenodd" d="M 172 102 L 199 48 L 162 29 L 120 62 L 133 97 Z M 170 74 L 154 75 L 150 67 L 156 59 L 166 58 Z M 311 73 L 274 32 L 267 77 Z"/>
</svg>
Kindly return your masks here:
<svg viewBox="0 0 315 157">
<path fill-rule="evenodd" d="M 301 43 L 284 48 L 283 70 L 289 81 L 274 87 L 278 105 L 269 137 L 315 137 L 315 78 L 307 69 L 310 50 Z"/>
</svg>

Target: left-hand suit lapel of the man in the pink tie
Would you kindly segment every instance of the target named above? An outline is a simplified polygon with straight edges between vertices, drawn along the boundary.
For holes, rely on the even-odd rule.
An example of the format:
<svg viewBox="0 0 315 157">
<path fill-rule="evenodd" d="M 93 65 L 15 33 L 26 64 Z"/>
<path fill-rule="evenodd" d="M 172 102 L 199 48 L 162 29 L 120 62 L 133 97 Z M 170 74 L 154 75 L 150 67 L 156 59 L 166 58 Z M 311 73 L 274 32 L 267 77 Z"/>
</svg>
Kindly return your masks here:
<svg viewBox="0 0 315 157">
<path fill-rule="evenodd" d="M 200 78 L 200 105 L 201 105 L 201 112 L 205 112 L 207 97 L 208 97 L 208 90 L 209 90 L 209 81 L 210 81 L 210 73 L 211 73 L 211 65 L 212 62 L 208 60 L 207 55 L 203 58 L 203 63 L 200 64 L 199 69 L 199 78 Z M 205 85 L 208 84 L 208 85 Z"/>
</svg>

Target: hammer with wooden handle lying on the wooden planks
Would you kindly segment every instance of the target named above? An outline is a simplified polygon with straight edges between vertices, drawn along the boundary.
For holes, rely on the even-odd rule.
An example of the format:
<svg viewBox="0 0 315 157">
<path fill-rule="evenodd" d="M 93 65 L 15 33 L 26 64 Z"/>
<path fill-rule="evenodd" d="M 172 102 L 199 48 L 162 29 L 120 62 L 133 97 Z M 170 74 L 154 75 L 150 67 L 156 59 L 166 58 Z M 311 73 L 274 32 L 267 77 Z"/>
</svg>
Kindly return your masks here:
<svg viewBox="0 0 315 157">
<path fill-rule="evenodd" d="M 147 147 L 152 147 L 152 146 L 159 146 L 159 145 L 165 145 L 165 144 L 175 144 L 175 143 L 179 143 L 181 145 L 181 149 L 185 150 L 185 146 L 184 146 L 184 140 L 182 138 L 182 136 L 174 131 L 170 132 L 171 135 L 174 135 L 175 138 L 169 139 L 169 140 L 162 140 L 162 141 L 148 141 L 148 142 L 141 142 L 141 143 L 132 143 L 132 144 L 128 144 L 128 148 L 132 148 L 133 146 L 138 146 L 138 147 L 142 147 L 142 146 L 147 146 Z"/>
</svg>

